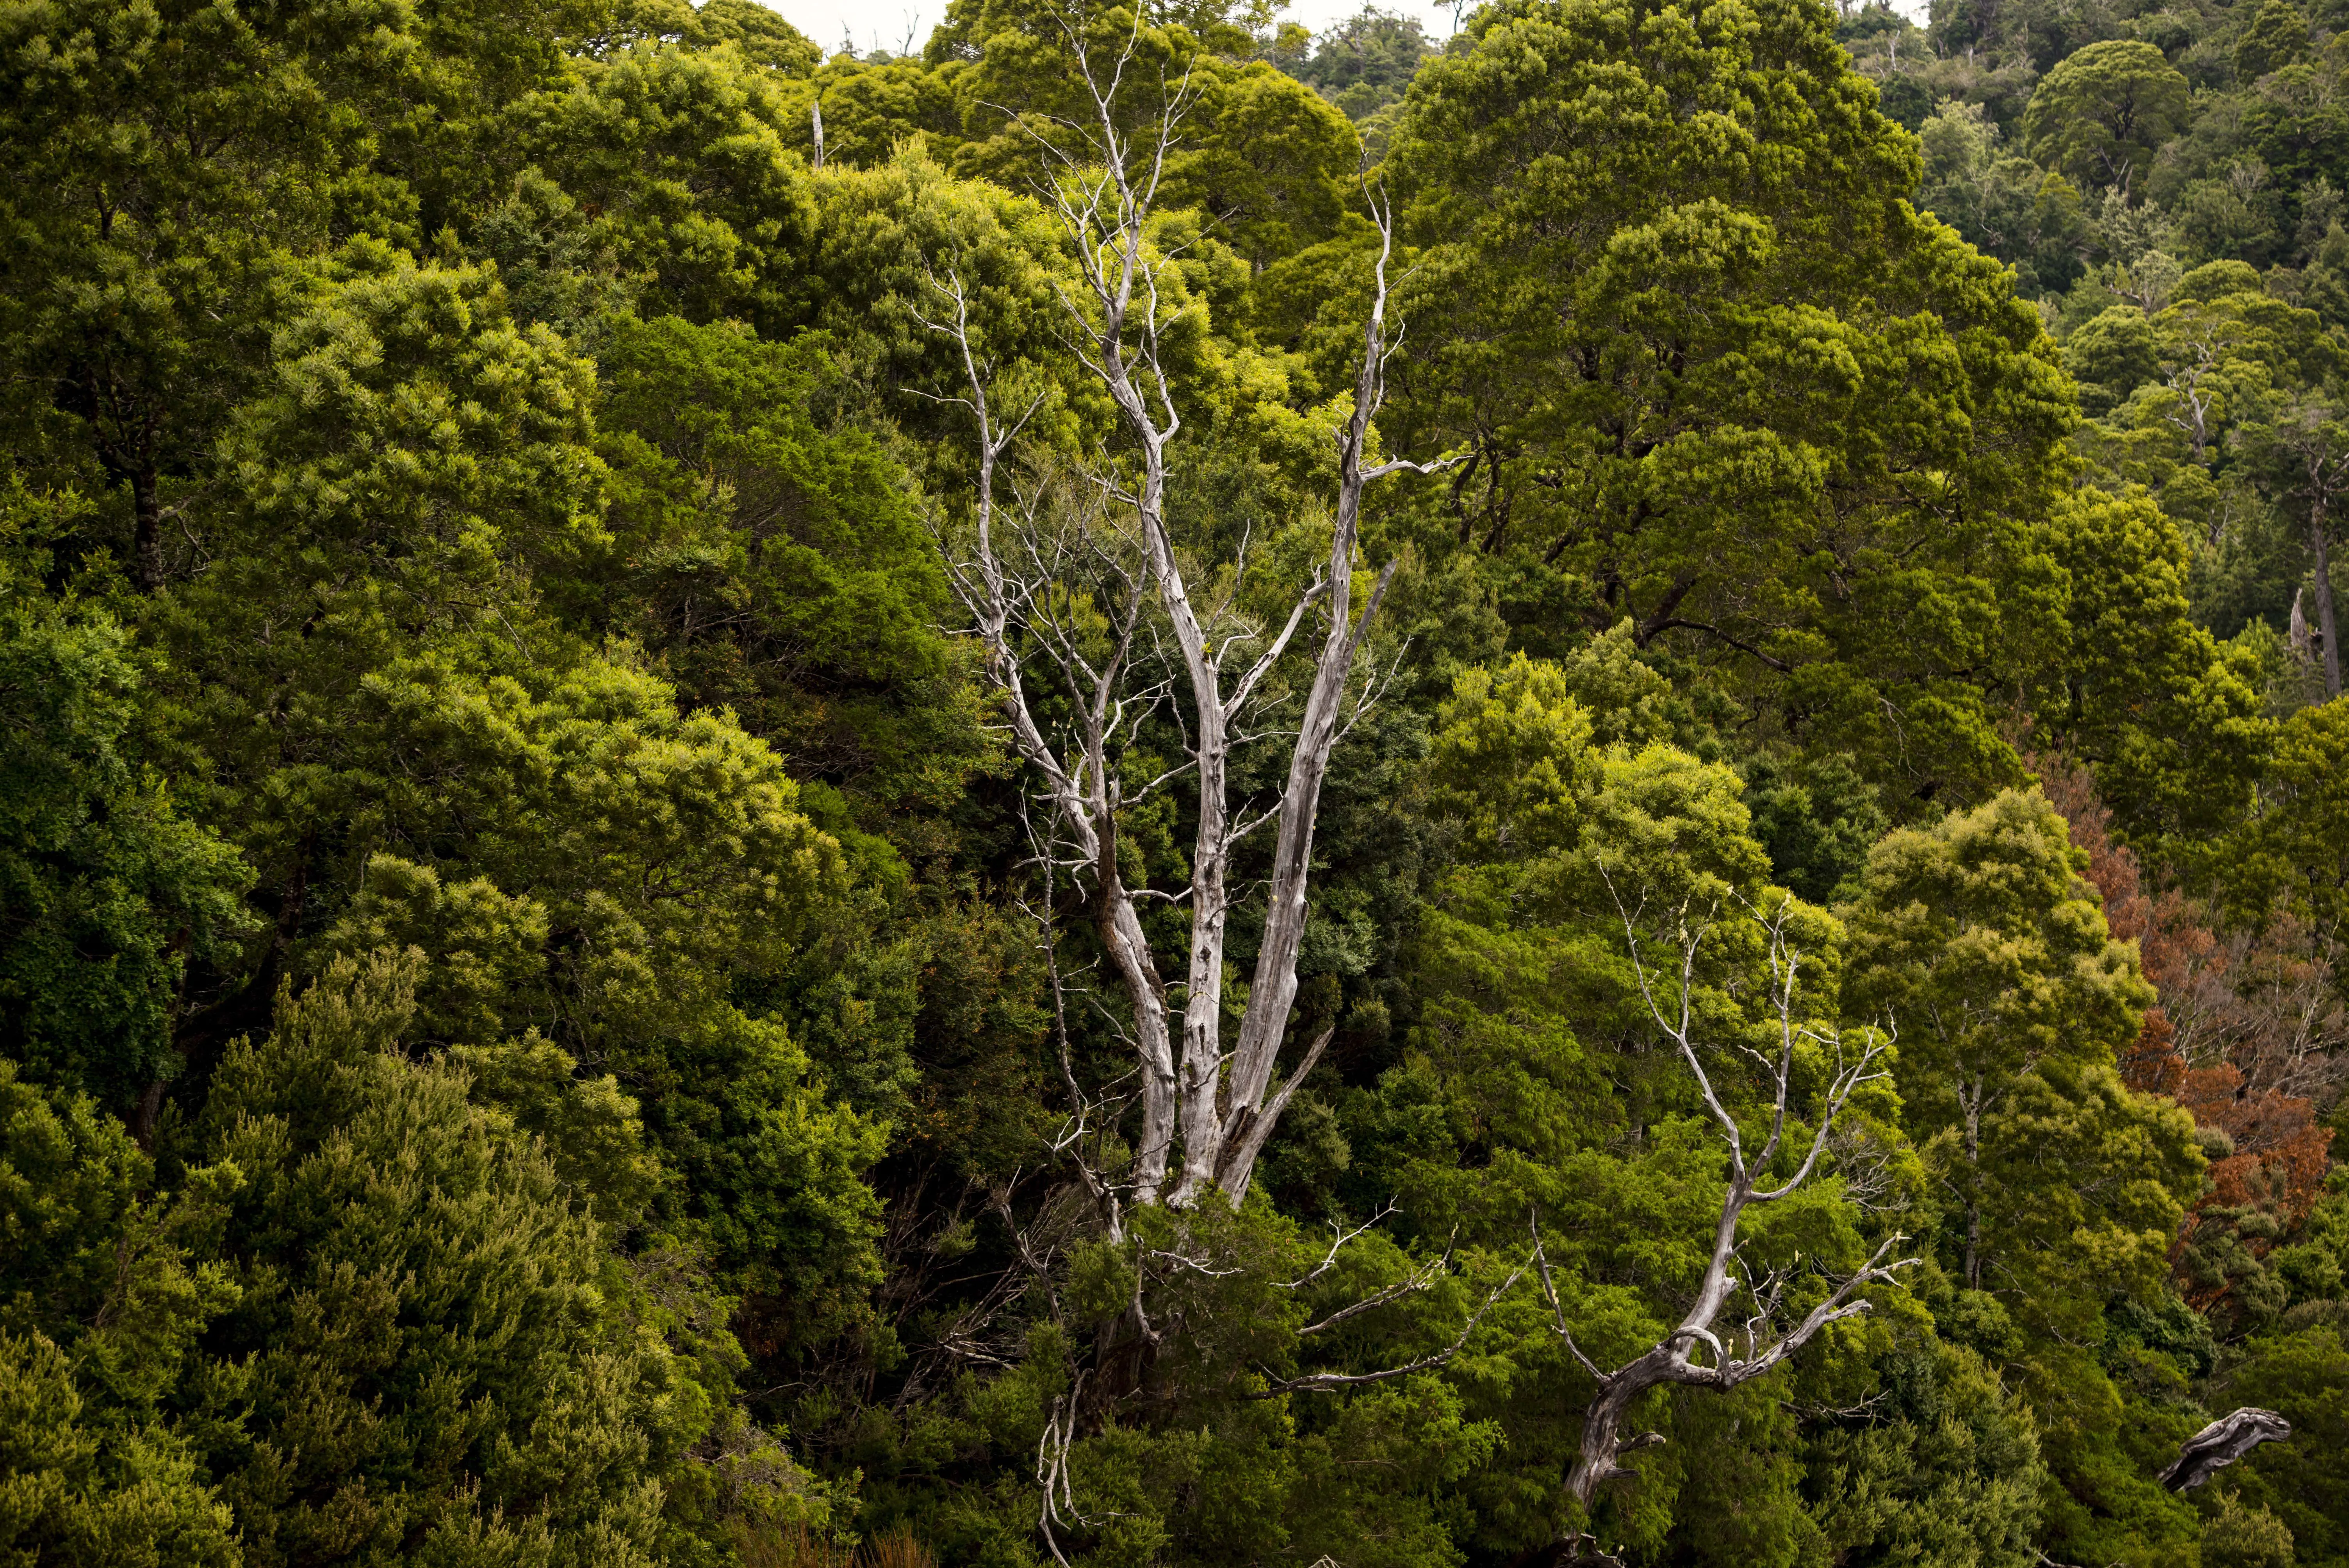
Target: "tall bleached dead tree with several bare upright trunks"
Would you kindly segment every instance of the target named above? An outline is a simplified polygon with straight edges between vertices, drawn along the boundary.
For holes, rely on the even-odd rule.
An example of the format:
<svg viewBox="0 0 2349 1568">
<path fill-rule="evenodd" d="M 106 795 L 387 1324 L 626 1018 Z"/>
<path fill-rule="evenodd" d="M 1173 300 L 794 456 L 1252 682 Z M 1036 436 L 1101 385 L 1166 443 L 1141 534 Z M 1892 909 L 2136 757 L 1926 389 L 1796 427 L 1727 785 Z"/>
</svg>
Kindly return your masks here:
<svg viewBox="0 0 2349 1568">
<path fill-rule="evenodd" d="M 1330 1035 L 1322 1033 L 1294 1061 L 1287 1082 L 1276 1089 L 1280 1049 L 1287 1040 L 1297 1002 L 1297 958 L 1308 915 L 1313 864 L 1313 826 L 1330 756 L 1346 730 L 1346 702 L 1355 690 L 1355 664 L 1365 629 L 1377 613 L 1391 566 L 1372 589 L 1360 620 L 1353 615 L 1353 554 L 1362 516 L 1362 491 L 1369 481 L 1398 469 L 1433 472 L 1445 465 L 1384 462 L 1365 467 L 1369 423 L 1384 397 L 1384 371 L 1391 352 L 1386 340 L 1386 265 L 1391 256 L 1391 221 L 1372 207 L 1381 230 L 1374 270 L 1374 303 L 1362 331 L 1362 361 L 1355 373 L 1353 411 L 1339 432 L 1339 493 L 1330 552 L 1313 584 L 1292 603 L 1285 624 L 1217 624 L 1217 613 L 1203 613 L 1184 580 L 1182 559 L 1165 519 L 1170 453 L 1182 434 L 1170 371 L 1158 354 L 1165 326 L 1158 275 L 1167 265 L 1149 251 L 1146 228 L 1158 178 L 1174 146 L 1186 92 L 1177 89 L 1156 120 L 1149 146 L 1132 143 L 1120 129 L 1113 99 L 1123 80 L 1118 70 L 1097 75 L 1076 45 L 1085 68 L 1085 87 L 1095 99 L 1085 157 L 1062 160 L 1062 178 L 1050 188 L 1055 211 L 1071 237 L 1081 272 L 1081 296 L 1069 300 L 1069 324 L 1083 366 L 1095 376 L 1130 441 L 1130 469 L 1099 474 L 1099 502 L 1130 519 L 1139 566 L 1128 570 L 1090 540 L 1078 540 L 1076 554 L 1092 552 L 1097 575 L 1116 582 L 1123 608 L 1116 622 L 1116 655 L 1102 664 L 1085 657 L 1066 629 L 1052 622 L 1057 563 L 1069 556 L 1064 540 L 1045 547 L 1034 535 L 1034 519 L 1017 547 L 1024 566 L 1005 566 L 1005 542 L 996 535 L 994 472 L 1010 448 L 1022 420 L 998 425 L 987 397 L 987 371 L 972 350 L 968 300 L 956 275 L 937 282 L 954 305 L 951 319 L 930 322 L 933 331 L 954 336 L 963 352 L 965 404 L 980 425 L 980 493 L 975 498 L 977 542 L 968 561 L 949 552 L 949 575 L 972 615 L 987 650 L 989 678 L 1008 716 L 1008 728 L 1022 761 L 1043 782 L 1059 850 L 1043 845 L 1055 864 L 1069 864 L 1092 880 L 1095 922 L 1109 951 L 1111 967 L 1132 1009 L 1132 1047 L 1139 1068 L 1142 1131 L 1128 1185 L 1135 1202 L 1196 1204 L 1210 1188 L 1238 1202 L 1247 1192 L 1254 1162 L 1280 1120 L 1290 1094 L 1320 1059 Z M 1050 143 L 1048 143 L 1050 146 Z M 1034 411 L 1034 408 L 1031 408 Z M 1149 897 L 1172 897 L 1189 908 L 1184 955 L 1184 998 L 1179 1042 L 1165 979 L 1151 955 L 1137 911 L 1142 890 L 1125 887 L 1116 864 L 1116 817 L 1132 800 L 1118 791 L 1118 735 L 1132 723 L 1128 704 L 1156 704 L 1156 692 L 1135 690 L 1130 667 L 1132 641 L 1146 601 L 1156 606 L 1167 641 L 1179 660 L 1174 685 L 1182 692 L 1186 772 L 1196 782 L 1198 815 L 1191 831 L 1191 885 L 1179 894 L 1149 890 Z M 1297 718 L 1290 768 L 1278 805 L 1268 817 L 1243 822 L 1231 796 L 1231 758 L 1247 716 L 1261 709 L 1261 688 L 1311 615 L 1322 617 L 1313 681 Z M 1229 615 L 1229 613 L 1224 613 Z M 1245 671 L 1226 671 L 1238 646 L 1261 648 Z M 1034 718 L 1022 669 L 1022 648 L 1043 646 L 1057 664 L 1064 695 L 1081 721 L 1055 742 Z M 1358 695 L 1360 702 L 1360 695 Z M 1172 775 L 1170 775 L 1172 777 Z M 1165 784 L 1158 779 L 1149 789 Z M 1144 791 L 1146 793 L 1146 791 Z M 1224 976 L 1231 922 L 1231 857 L 1257 826 L 1273 826 L 1264 944 L 1250 976 L 1247 1009 L 1238 1042 L 1224 1040 Z"/>
</svg>

